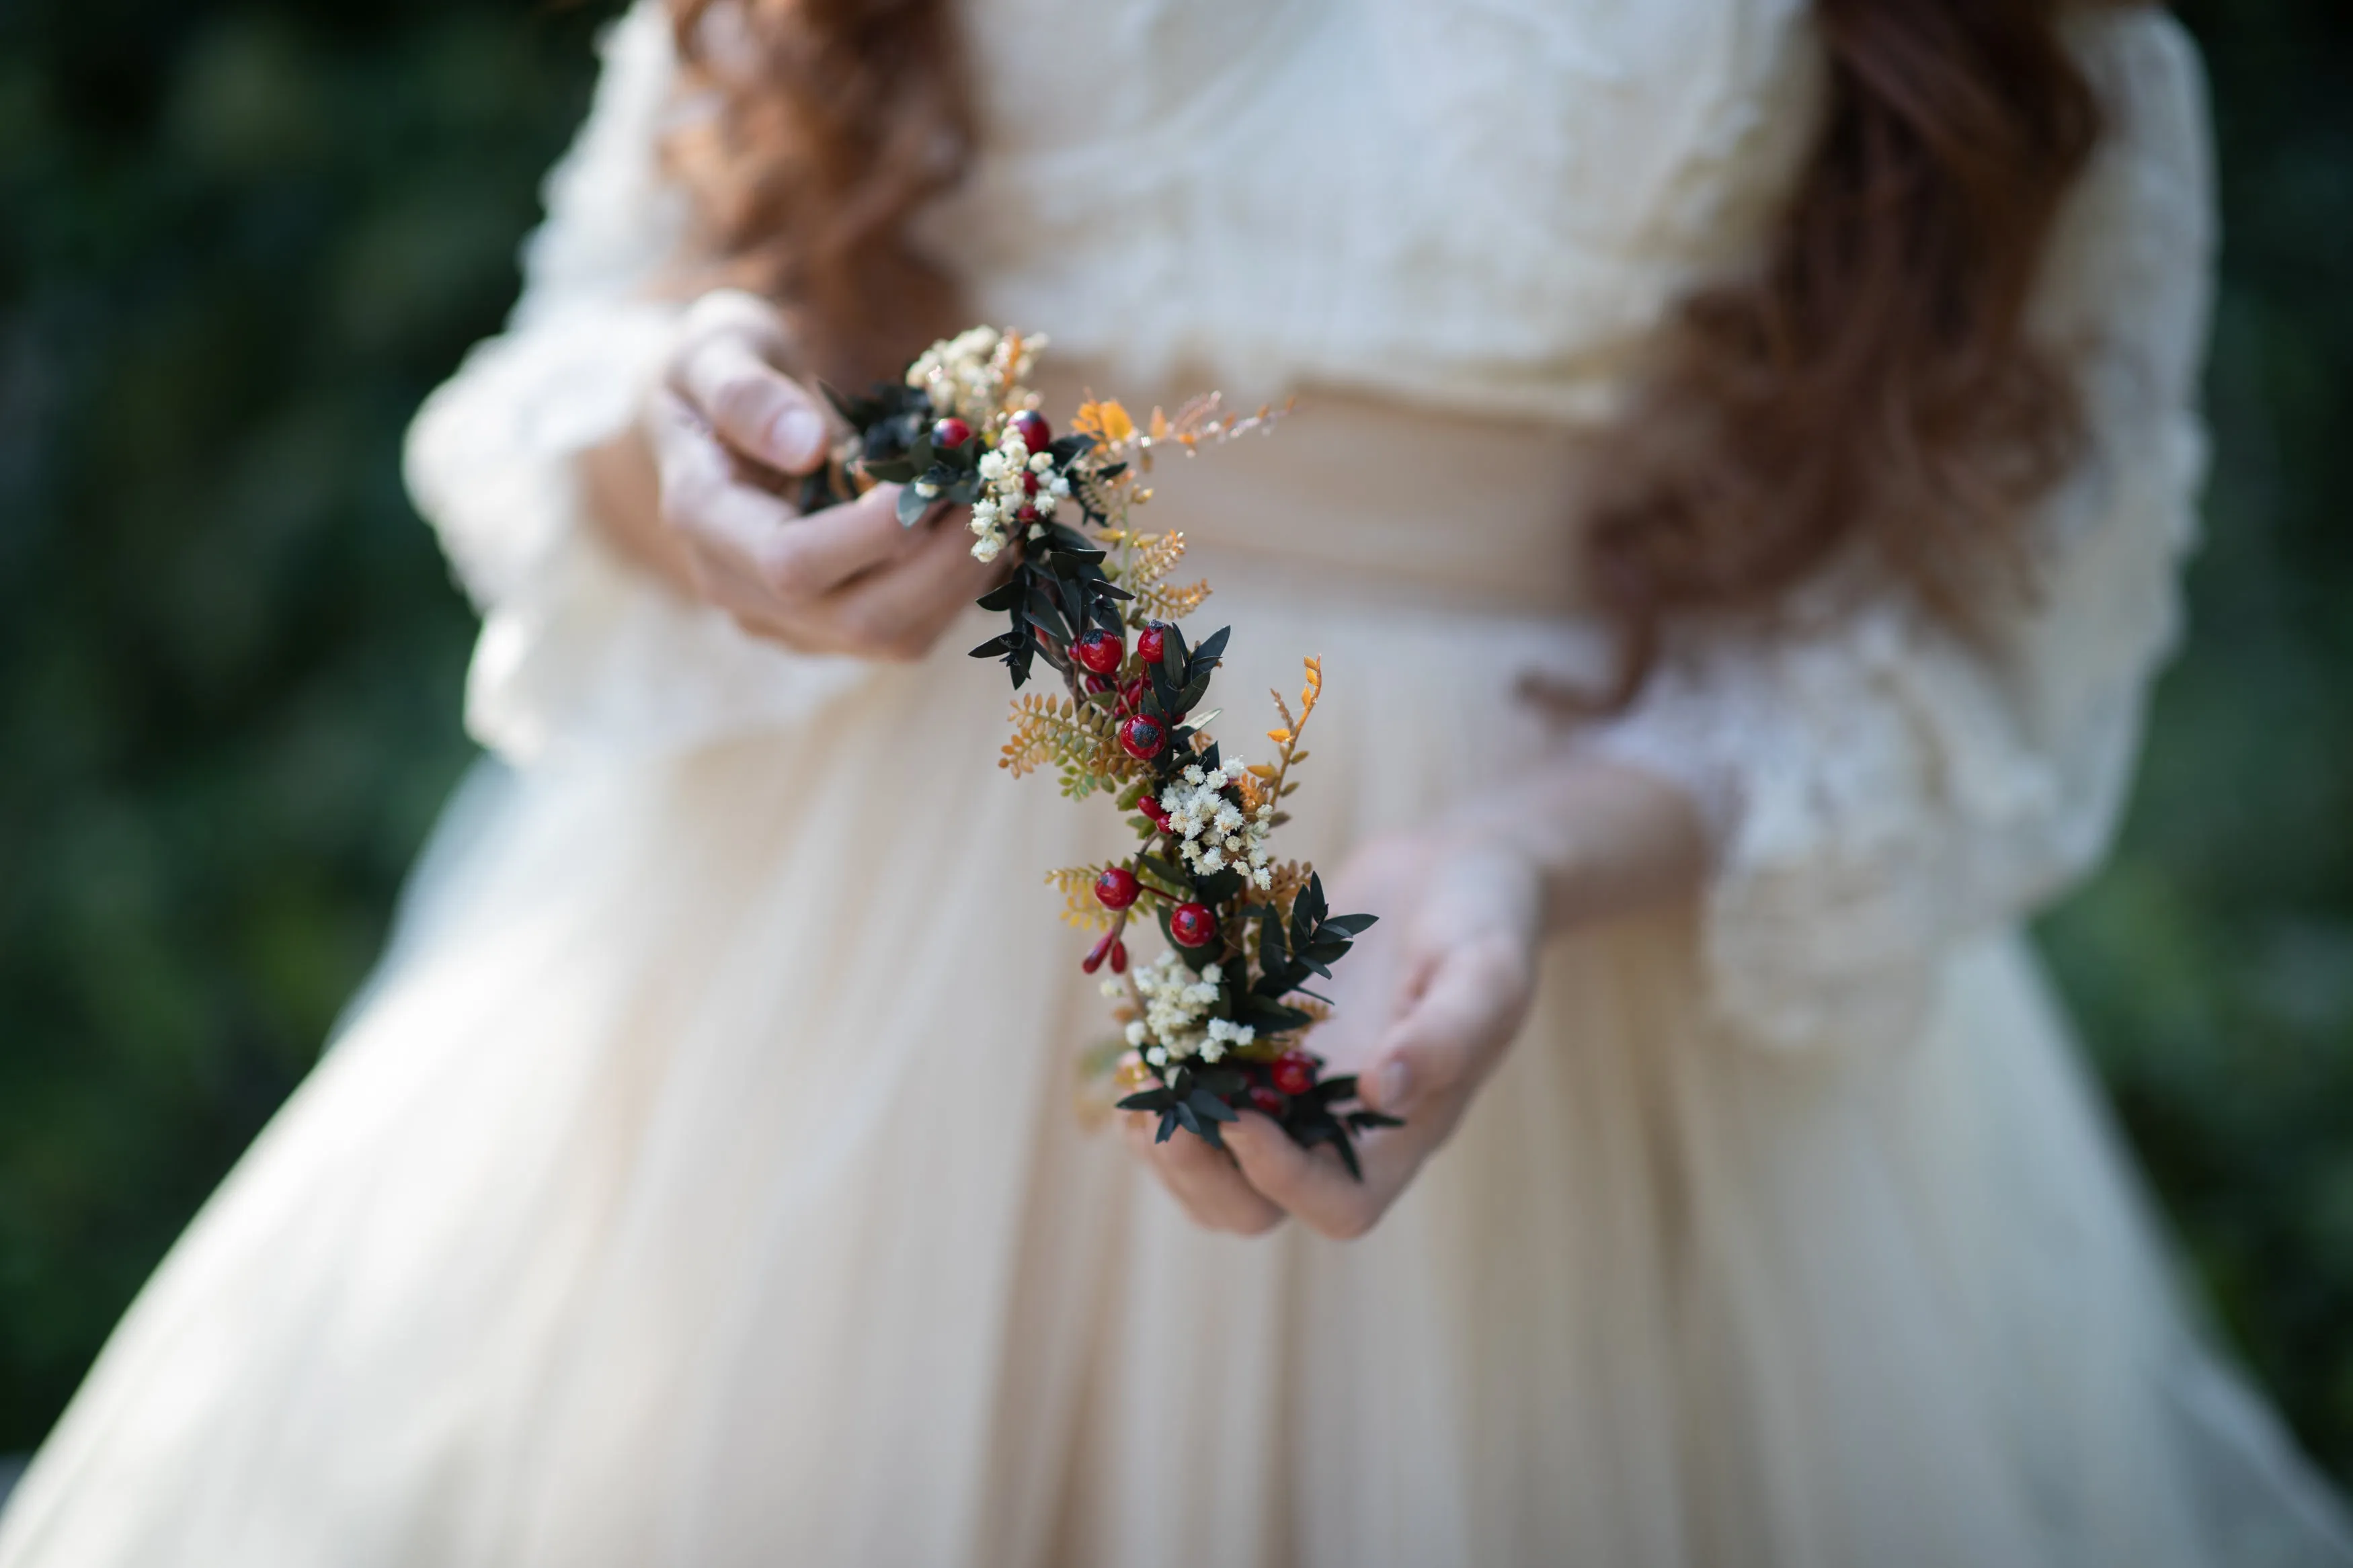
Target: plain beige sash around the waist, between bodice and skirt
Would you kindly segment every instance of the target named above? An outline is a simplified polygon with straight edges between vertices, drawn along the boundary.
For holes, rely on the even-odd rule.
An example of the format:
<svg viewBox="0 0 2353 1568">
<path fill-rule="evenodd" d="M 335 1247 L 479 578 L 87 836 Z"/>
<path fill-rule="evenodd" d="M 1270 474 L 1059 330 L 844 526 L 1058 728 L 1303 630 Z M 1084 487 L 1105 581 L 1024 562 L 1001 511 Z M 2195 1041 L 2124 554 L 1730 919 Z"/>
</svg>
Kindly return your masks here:
<svg viewBox="0 0 2353 1568">
<path fill-rule="evenodd" d="M 1066 421 L 1089 381 L 1111 386 L 1078 369 L 1042 374 L 1047 416 Z M 1122 402 L 1139 421 L 1153 407 Z M 1186 569 L 1219 585 L 1567 614 L 1581 607 L 1574 512 L 1586 463 L 1562 425 L 1311 390 L 1273 435 L 1160 454 L 1136 527 L 1184 531 Z"/>
</svg>

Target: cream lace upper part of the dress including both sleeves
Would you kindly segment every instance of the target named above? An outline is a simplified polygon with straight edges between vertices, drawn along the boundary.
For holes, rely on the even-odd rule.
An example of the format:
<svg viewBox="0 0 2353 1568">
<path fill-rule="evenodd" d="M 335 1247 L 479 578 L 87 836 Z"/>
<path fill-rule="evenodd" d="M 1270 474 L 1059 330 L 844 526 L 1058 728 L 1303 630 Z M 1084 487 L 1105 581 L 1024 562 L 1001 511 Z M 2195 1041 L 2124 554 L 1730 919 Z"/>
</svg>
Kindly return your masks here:
<svg viewBox="0 0 2353 1568">
<path fill-rule="evenodd" d="M 1144 381 L 1348 386 L 1560 421 L 1609 404 L 1692 282 L 1755 256 L 1807 146 L 1798 0 L 976 0 L 984 148 L 925 219 L 986 315 Z M 2035 520 L 2045 585 L 1960 646 L 1894 590 L 1805 635 L 1671 649 L 1584 745 L 1706 809 L 1706 959 L 1741 1034 L 1901 1034 L 1941 954 L 2080 875 L 2129 778 L 2202 465 L 2212 193 L 2195 56 L 2158 12 L 2078 52 L 2108 136 L 2038 327 L 2092 447 Z M 1038 92 L 1049 82 L 1052 92 Z M 682 230 L 652 0 L 607 40 L 508 334 L 421 411 L 419 508 L 485 611 L 468 722 L 536 764 L 788 724 L 861 679 L 741 635 L 612 557 L 572 458 L 619 430 Z"/>
</svg>

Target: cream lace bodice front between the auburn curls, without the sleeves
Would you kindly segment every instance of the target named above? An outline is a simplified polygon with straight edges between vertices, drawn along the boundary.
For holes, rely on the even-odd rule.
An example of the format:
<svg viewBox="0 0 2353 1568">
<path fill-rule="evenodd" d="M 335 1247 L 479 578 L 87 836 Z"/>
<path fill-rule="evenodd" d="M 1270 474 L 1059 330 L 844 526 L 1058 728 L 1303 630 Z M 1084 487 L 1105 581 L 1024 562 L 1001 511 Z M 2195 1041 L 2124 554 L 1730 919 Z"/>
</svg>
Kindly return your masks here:
<svg viewBox="0 0 2353 1568">
<path fill-rule="evenodd" d="M 1755 254 L 1814 129 L 1802 14 L 981 0 L 979 167 L 927 233 L 981 315 L 1129 386 L 1581 414 Z"/>
</svg>

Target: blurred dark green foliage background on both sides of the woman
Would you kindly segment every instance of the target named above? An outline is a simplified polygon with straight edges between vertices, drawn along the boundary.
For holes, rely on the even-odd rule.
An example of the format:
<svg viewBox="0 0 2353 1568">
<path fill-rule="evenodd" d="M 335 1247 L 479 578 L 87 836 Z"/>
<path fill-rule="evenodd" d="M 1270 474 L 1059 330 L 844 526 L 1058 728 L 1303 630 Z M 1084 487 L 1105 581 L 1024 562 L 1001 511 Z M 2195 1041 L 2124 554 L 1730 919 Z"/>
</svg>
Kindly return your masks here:
<svg viewBox="0 0 2353 1568">
<path fill-rule="evenodd" d="M 2181 7 L 2226 181 L 2195 630 L 2042 929 L 2186 1267 L 2353 1481 L 2353 16 Z M 0 0 L 0 1453 L 311 1065 L 466 766 L 400 430 L 612 5 Z"/>
</svg>

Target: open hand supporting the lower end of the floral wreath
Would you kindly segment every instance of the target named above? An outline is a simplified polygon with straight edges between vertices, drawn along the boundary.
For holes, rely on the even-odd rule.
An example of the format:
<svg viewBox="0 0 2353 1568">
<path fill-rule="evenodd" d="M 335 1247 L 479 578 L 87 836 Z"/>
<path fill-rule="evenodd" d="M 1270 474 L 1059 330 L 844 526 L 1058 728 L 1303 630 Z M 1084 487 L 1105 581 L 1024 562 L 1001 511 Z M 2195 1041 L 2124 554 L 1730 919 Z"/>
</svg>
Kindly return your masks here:
<svg viewBox="0 0 2353 1568">
<path fill-rule="evenodd" d="M 1209 1229 L 1259 1234 L 1297 1215 L 1327 1237 L 1365 1234 L 1527 1018 L 1544 875 L 1525 851 L 1480 835 L 1384 839 L 1334 877 L 1332 907 L 1384 919 L 1334 966 L 1337 1009 L 1313 1046 L 1327 1072 L 1360 1074 L 1365 1105 L 1405 1126 L 1362 1135 L 1365 1175 L 1353 1180 L 1329 1150 L 1301 1150 L 1257 1112 L 1224 1128 L 1231 1159 L 1191 1133 L 1153 1143 L 1158 1117 L 1129 1112 L 1129 1147 Z"/>
</svg>

